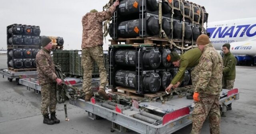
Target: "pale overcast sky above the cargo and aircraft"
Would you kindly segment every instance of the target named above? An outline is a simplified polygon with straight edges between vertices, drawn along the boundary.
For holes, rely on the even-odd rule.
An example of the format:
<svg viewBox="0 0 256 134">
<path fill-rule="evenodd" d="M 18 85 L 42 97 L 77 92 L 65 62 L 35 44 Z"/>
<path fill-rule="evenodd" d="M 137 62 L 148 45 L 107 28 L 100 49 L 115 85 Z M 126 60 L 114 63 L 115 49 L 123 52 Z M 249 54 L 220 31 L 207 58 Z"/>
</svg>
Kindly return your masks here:
<svg viewBox="0 0 256 134">
<path fill-rule="evenodd" d="M 190 0 L 206 8 L 208 22 L 256 17 L 255 0 Z M 6 48 L 6 26 L 40 26 L 41 34 L 64 38 L 64 49 L 81 49 L 81 19 L 91 9 L 102 11 L 108 0 L 0 0 L 0 48 Z M 110 42 L 105 43 L 104 50 Z M 68 45 L 69 44 L 69 45 Z"/>
</svg>

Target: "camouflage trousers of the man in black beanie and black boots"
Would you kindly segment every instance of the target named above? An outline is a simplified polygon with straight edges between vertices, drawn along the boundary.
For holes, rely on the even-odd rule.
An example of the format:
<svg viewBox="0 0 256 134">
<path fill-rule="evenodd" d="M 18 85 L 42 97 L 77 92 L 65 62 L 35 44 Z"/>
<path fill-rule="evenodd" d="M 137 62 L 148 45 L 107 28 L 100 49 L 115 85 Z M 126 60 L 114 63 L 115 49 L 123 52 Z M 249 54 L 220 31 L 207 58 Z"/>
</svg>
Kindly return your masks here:
<svg viewBox="0 0 256 134">
<path fill-rule="evenodd" d="M 57 97 L 56 97 L 56 83 L 48 83 L 41 85 L 41 113 L 42 115 L 48 113 L 48 107 L 50 113 L 55 112 Z"/>
</svg>

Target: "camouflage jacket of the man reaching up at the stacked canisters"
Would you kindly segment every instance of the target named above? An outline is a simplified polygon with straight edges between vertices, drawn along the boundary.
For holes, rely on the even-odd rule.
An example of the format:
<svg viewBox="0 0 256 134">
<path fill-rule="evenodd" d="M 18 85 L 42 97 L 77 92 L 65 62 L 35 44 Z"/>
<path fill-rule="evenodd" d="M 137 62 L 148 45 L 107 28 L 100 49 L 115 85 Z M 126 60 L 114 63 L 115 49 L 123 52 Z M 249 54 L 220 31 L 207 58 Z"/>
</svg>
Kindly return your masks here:
<svg viewBox="0 0 256 134">
<path fill-rule="evenodd" d="M 83 16 L 82 49 L 103 45 L 102 22 L 109 19 L 115 9 L 114 5 L 112 5 L 107 11 L 87 13 Z"/>
</svg>

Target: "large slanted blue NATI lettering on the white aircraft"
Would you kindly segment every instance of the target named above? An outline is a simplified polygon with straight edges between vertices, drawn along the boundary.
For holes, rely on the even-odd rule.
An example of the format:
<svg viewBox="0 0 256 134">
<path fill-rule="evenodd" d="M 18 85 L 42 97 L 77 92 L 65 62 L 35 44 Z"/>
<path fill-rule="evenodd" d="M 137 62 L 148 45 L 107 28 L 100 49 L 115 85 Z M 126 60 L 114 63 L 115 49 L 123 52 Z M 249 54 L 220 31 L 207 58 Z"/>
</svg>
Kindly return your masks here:
<svg viewBox="0 0 256 134">
<path fill-rule="evenodd" d="M 207 28 L 207 33 L 210 33 L 210 37 L 216 38 L 224 38 L 228 37 L 237 37 L 238 33 L 241 32 L 239 37 L 243 37 L 244 35 L 248 37 L 252 37 L 256 35 L 256 24 L 254 25 L 240 25 L 240 26 L 231 26 L 230 28 L 226 27 L 214 27 L 214 28 Z M 235 33 L 234 33 L 235 32 Z M 234 34 L 233 34 L 234 33 Z"/>
</svg>

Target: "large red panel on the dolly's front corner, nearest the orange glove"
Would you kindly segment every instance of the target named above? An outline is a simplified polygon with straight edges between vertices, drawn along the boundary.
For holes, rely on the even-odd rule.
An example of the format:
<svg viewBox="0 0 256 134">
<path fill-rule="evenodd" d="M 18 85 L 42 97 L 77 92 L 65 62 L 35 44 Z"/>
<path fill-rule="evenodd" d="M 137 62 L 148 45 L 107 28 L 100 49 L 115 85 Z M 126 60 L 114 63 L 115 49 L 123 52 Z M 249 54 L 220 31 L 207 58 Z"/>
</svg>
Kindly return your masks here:
<svg viewBox="0 0 256 134">
<path fill-rule="evenodd" d="M 174 120 L 178 117 L 181 117 L 181 116 L 184 116 L 184 115 L 187 115 L 187 114 L 189 114 L 189 108 L 188 107 L 181 108 L 181 109 L 176 110 L 174 112 L 170 112 L 168 114 L 165 114 L 164 117 L 163 117 L 163 125 L 168 123 L 171 120 Z"/>
</svg>

